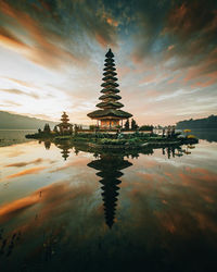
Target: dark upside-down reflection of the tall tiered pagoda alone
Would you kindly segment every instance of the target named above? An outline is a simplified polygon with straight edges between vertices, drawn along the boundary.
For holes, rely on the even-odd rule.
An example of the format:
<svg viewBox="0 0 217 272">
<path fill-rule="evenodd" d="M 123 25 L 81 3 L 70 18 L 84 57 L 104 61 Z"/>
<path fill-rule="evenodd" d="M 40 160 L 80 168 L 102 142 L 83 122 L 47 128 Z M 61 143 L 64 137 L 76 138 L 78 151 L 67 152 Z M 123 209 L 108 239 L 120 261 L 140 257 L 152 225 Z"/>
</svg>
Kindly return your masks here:
<svg viewBox="0 0 217 272">
<path fill-rule="evenodd" d="M 101 188 L 103 190 L 104 214 L 108 227 L 113 226 L 115 220 L 115 207 L 117 206 L 116 201 L 119 195 L 117 185 L 120 184 L 120 181 L 117 178 L 123 175 L 120 170 L 132 164 L 118 154 L 101 154 L 99 160 L 88 163 L 88 166 L 100 170 L 97 175 L 102 177 L 100 183 L 103 185 Z"/>
</svg>

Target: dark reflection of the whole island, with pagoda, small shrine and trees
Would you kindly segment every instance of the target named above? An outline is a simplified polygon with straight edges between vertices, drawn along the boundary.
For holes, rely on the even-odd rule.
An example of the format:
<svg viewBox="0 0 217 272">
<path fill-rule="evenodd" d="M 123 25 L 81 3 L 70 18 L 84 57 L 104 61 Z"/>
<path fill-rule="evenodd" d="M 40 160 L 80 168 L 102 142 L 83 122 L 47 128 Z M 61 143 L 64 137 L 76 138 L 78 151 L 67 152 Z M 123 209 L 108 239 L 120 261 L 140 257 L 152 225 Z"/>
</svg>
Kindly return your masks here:
<svg viewBox="0 0 217 272">
<path fill-rule="evenodd" d="M 61 144 L 54 143 L 54 145 L 61 149 L 62 157 L 64 161 L 67 160 L 67 158 L 71 154 L 71 151 L 74 149 L 74 153 L 77 156 L 79 151 L 88 151 L 92 152 L 95 160 L 89 162 L 87 165 L 89 168 L 92 168 L 94 170 L 98 170 L 100 172 L 97 173 L 98 176 L 102 177 L 100 180 L 100 183 L 102 184 L 101 189 L 102 191 L 102 200 L 104 206 L 104 218 L 106 225 L 112 228 L 115 219 L 115 212 L 118 201 L 118 185 L 122 183 L 119 180 L 123 176 L 123 172 L 120 170 L 127 169 L 132 165 L 131 162 L 125 159 L 131 158 L 131 159 L 138 159 L 139 152 L 138 150 L 124 150 L 118 152 L 102 152 L 102 151 L 95 151 L 95 150 L 88 150 L 87 146 L 76 146 L 73 145 L 69 140 L 64 140 Z M 49 149 L 51 146 L 51 141 L 46 140 L 44 147 L 46 149 Z M 192 146 L 193 147 L 193 146 Z M 162 148 L 162 153 L 166 156 L 168 159 L 171 157 L 181 157 L 183 153 L 189 154 L 191 153 L 188 151 L 188 146 L 186 147 L 164 147 Z M 152 156 L 154 153 L 153 148 L 145 148 L 143 150 L 140 150 L 140 153 Z"/>
</svg>

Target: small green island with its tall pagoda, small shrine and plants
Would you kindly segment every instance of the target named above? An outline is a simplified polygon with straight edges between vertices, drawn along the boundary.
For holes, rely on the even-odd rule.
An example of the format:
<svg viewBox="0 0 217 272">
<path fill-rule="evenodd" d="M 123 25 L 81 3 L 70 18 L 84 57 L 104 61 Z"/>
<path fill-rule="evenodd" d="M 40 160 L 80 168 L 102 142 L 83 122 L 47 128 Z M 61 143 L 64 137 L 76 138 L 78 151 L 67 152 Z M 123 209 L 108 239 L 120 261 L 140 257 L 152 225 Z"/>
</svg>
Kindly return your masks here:
<svg viewBox="0 0 217 272">
<path fill-rule="evenodd" d="M 104 66 L 103 84 L 101 85 L 103 95 L 100 96 L 100 102 L 97 104 L 100 110 L 87 114 L 91 120 L 97 120 L 97 125 L 90 125 L 89 129 L 84 129 L 77 124 L 71 124 L 68 115 L 63 112 L 61 123 L 53 129 L 46 124 L 43 131 L 38 129 L 38 133 L 26 135 L 26 138 L 49 139 L 55 144 L 69 141 L 97 150 L 158 148 L 193 145 L 199 141 L 193 135 L 190 135 L 190 129 L 186 129 L 184 134 L 181 134 L 180 131 L 175 129 L 175 126 L 168 126 L 167 129 L 163 128 L 161 133 L 156 133 L 153 131 L 153 126 L 139 127 L 131 119 L 130 127 L 129 119 L 132 118 L 132 114 L 120 110 L 124 104 L 119 102 L 122 97 L 117 95 L 119 85 L 111 49 L 105 54 Z"/>
</svg>

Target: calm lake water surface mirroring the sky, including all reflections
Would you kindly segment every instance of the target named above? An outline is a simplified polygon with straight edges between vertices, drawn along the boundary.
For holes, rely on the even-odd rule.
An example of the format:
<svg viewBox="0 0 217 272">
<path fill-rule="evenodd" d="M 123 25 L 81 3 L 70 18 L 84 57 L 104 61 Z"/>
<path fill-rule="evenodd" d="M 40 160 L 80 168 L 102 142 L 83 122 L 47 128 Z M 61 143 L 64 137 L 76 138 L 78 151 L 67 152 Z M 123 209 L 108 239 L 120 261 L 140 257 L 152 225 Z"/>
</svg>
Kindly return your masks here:
<svg viewBox="0 0 217 272">
<path fill-rule="evenodd" d="M 216 271 L 215 133 L 125 154 L 25 134 L 0 148 L 0 271 Z"/>
</svg>

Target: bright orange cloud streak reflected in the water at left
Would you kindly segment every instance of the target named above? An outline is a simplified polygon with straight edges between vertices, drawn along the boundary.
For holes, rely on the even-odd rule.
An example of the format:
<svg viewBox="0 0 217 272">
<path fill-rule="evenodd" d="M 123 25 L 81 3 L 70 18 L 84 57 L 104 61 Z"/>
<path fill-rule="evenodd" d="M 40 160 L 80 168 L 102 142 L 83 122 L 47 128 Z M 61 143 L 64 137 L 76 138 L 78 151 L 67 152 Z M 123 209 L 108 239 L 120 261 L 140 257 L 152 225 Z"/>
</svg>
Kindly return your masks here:
<svg viewBox="0 0 217 272">
<path fill-rule="evenodd" d="M 40 206 L 38 206 L 38 213 L 40 213 L 38 220 L 40 224 L 42 224 L 44 217 L 48 220 L 49 218 L 52 219 L 54 214 L 58 217 L 61 215 L 62 212 L 67 213 L 67 209 L 78 209 L 79 198 L 85 199 L 87 195 L 91 195 L 91 191 L 92 185 L 74 187 L 67 181 L 51 184 L 37 189 L 29 196 L 0 206 L 0 222 L 2 223 L 11 218 L 15 218 L 22 214 L 26 209 L 40 203 Z"/>
</svg>

